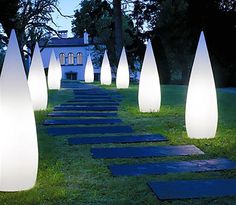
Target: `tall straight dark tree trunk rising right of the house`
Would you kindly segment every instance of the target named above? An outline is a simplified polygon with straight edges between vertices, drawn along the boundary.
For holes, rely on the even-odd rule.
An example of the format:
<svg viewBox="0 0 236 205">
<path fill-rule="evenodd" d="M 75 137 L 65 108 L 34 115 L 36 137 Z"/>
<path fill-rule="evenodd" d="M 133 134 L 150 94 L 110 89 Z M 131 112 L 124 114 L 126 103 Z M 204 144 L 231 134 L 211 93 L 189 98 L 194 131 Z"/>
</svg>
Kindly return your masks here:
<svg viewBox="0 0 236 205">
<path fill-rule="evenodd" d="M 115 53 L 117 64 L 123 47 L 121 0 L 113 0 L 113 6 L 115 22 Z"/>
</svg>

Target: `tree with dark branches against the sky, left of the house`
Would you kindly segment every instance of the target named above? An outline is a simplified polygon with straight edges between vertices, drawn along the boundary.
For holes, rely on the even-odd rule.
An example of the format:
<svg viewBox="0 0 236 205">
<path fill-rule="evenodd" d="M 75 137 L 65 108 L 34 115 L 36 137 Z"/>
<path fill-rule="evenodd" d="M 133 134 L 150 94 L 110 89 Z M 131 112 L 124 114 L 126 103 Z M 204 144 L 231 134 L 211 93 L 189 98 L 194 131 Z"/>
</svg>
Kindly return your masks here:
<svg viewBox="0 0 236 205">
<path fill-rule="evenodd" d="M 57 9 L 57 0 L 3 0 L 0 22 L 9 37 L 11 29 L 15 29 L 22 52 L 32 55 L 36 41 L 39 41 L 47 32 L 56 31 L 48 26 L 53 22 L 52 12 Z M 10 11 L 9 11 L 10 10 Z M 3 38 L 7 43 L 7 39 Z M 30 49 L 24 49 L 24 46 Z"/>
</svg>

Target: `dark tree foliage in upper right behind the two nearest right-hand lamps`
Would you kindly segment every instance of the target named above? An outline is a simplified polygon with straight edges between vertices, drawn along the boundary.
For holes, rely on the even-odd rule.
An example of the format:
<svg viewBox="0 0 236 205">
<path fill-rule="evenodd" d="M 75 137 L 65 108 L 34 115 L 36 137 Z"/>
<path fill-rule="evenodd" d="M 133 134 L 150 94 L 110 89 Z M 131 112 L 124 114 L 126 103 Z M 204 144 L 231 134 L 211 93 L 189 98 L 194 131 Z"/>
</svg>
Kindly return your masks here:
<svg viewBox="0 0 236 205">
<path fill-rule="evenodd" d="M 187 83 L 203 30 L 217 85 L 236 85 L 236 59 L 232 52 L 236 47 L 235 1 L 143 0 L 133 1 L 133 5 L 130 15 L 139 32 L 156 42 L 154 51 L 159 58 L 161 79 Z M 143 31 L 144 26 L 147 31 Z"/>
</svg>

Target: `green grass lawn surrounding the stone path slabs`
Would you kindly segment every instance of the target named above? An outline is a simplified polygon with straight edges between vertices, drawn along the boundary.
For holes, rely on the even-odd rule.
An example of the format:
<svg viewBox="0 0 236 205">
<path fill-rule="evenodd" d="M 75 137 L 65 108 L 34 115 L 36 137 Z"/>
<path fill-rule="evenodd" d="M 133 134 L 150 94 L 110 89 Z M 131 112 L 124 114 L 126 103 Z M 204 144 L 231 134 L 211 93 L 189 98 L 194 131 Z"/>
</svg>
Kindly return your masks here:
<svg viewBox="0 0 236 205">
<path fill-rule="evenodd" d="M 114 85 L 107 87 L 114 89 Z M 53 106 L 72 97 L 71 91 L 51 91 L 47 111 L 36 112 L 39 140 L 39 173 L 36 186 L 24 192 L 0 193 L 1 205 L 132 205 L 132 204 L 236 204 L 236 197 L 194 200 L 159 201 L 146 185 L 150 180 L 199 178 L 233 178 L 236 170 L 208 173 L 147 175 L 140 177 L 112 177 L 107 169 L 110 163 L 159 162 L 170 160 L 208 159 L 228 157 L 236 160 L 236 95 L 218 93 L 219 127 L 217 136 L 209 140 L 189 139 L 184 127 L 186 87 L 162 86 L 162 107 L 159 113 L 140 113 L 137 106 L 137 85 L 119 90 L 124 96 L 119 117 L 132 125 L 136 133 L 162 133 L 169 142 L 139 144 L 106 144 L 93 147 L 180 145 L 195 144 L 206 155 L 146 159 L 92 159 L 90 145 L 69 146 L 67 137 L 50 137 L 42 122 Z M 88 136 L 89 137 L 89 136 Z"/>
</svg>

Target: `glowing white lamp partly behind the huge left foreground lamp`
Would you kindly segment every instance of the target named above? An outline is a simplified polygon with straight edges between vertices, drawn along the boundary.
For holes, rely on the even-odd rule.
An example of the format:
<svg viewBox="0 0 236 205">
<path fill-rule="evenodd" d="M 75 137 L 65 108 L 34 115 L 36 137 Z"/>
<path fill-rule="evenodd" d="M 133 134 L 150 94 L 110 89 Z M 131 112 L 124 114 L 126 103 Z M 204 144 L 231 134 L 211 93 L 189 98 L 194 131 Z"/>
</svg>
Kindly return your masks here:
<svg viewBox="0 0 236 205">
<path fill-rule="evenodd" d="M 38 43 L 34 48 L 34 54 L 30 66 L 28 85 L 34 110 L 47 109 L 48 88 L 44 72 L 43 62 Z"/>
</svg>

